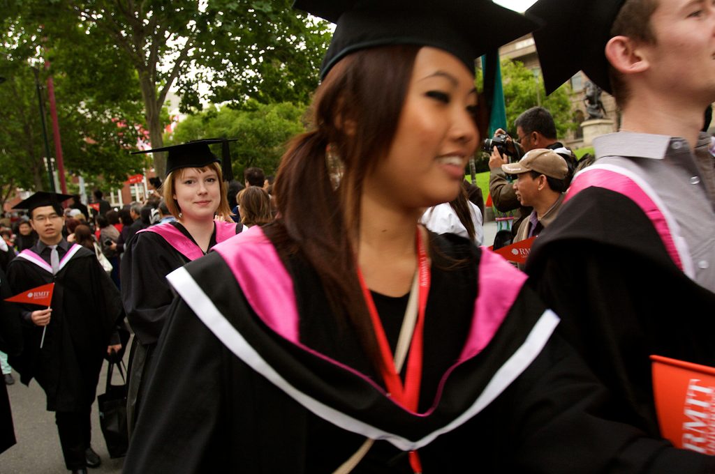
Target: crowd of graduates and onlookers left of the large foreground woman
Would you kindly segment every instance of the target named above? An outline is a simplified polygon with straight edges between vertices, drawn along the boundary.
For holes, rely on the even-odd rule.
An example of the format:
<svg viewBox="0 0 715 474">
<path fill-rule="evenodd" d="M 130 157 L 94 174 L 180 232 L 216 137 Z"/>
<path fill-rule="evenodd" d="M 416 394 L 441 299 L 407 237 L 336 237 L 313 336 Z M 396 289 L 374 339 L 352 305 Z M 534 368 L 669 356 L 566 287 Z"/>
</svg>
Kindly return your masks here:
<svg viewBox="0 0 715 474">
<path fill-rule="evenodd" d="M 39 311 L 3 303 L 3 318 L 17 318 L 20 326 L 0 328 L 0 350 L 10 353 L 0 352 L 0 366 L 7 385 L 15 383 L 11 365 L 24 383 L 35 378 L 41 385 L 47 409 L 56 413 L 66 468 L 72 472 L 101 463 L 91 445 L 89 413 L 102 360 L 117 360 L 126 349 L 122 343 L 127 338 L 120 337 L 127 331 L 125 316 L 134 333 L 127 407 L 131 429 L 142 375 L 162 329 L 162 314 L 173 298 L 164 276 L 202 256 L 215 243 L 270 223 L 275 216 L 272 198 L 263 187 L 270 189 L 270 185 L 267 179 L 264 183 L 260 168 L 247 170 L 245 188 L 235 183 L 242 188 L 233 196 L 240 203 L 237 216 L 230 212 L 230 186 L 222 180 L 217 158 L 205 143 L 174 150 L 181 154 L 187 148 L 189 161 L 169 153 L 163 195 L 155 190 L 144 202 L 117 210 L 102 199 L 101 191 L 95 191 L 94 204 L 106 211 L 89 213 L 79 196 L 40 191 L 4 216 L 0 246 L 4 297 L 54 282 L 61 299 L 53 296 L 51 309 Z M 262 186 L 248 181 L 257 175 Z M 104 321 L 99 328 L 97 312 Z M 41 347 L 33 346 L 39 333 Z M 102 341 L 106 357 L 98 351 Z M 4 401 L 0 397 L 1 406 L 7 405 Z M 6 420 L 11 428 L 11 418 Z M 4 448 L 14 443 L 14 435 L 9 433 L 7 439 L 5 443 L 0 435 Z"/>
</svg>

